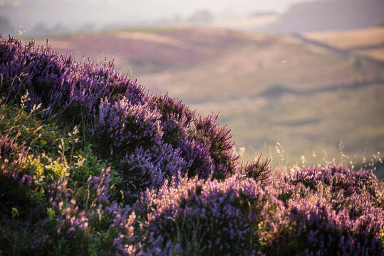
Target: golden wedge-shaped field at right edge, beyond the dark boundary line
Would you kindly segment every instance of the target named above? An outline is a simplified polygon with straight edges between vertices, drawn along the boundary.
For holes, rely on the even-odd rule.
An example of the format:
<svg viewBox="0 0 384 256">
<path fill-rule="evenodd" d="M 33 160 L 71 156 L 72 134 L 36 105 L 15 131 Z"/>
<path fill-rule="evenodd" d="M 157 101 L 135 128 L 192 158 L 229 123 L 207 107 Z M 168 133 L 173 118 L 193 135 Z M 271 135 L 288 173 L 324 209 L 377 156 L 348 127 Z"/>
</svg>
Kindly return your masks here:
<svg viewBox="0 0 384 256">
<path fill-rule="evenodd" d="M 351 31 L 306 33 L 306 38 L 341 50 L 384 61 L 384 26 Z"/>
</svg>

